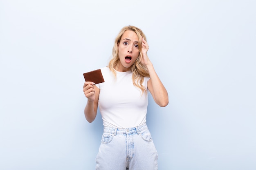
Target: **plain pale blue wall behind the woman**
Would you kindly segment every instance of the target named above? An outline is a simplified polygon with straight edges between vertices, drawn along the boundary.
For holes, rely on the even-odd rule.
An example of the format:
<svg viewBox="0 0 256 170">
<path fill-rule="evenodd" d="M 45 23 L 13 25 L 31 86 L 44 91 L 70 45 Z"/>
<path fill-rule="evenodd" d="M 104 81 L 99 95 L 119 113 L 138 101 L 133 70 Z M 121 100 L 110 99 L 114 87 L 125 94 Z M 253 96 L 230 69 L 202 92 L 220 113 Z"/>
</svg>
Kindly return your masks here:
<svg viewBox="0 0 256 170">
<path fill-rule="evenodd" d="M 256 169 L 254 0 L 0 0 L 0 170 L 93 170 L 83 73 L 135 25 L 169 94 L 149 95 L 159 170 Z"/>
</svg>

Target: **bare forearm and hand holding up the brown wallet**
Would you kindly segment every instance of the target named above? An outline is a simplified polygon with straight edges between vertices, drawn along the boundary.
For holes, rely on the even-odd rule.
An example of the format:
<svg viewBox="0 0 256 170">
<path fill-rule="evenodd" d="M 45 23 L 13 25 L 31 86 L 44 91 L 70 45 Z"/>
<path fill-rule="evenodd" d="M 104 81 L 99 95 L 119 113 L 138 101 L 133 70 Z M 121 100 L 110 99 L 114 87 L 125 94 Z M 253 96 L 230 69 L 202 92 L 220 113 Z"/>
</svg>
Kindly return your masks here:
<svg viewBox="0 0 256 170">
<path fill-rule="evenodd" d="M 99 88 L 93 82 L 85 82 L 83 84 L 83 92 L 87 97 L 87 104 L 84 109 L 85 118 L 91 123 L 97 115 Z"/>
</svg>

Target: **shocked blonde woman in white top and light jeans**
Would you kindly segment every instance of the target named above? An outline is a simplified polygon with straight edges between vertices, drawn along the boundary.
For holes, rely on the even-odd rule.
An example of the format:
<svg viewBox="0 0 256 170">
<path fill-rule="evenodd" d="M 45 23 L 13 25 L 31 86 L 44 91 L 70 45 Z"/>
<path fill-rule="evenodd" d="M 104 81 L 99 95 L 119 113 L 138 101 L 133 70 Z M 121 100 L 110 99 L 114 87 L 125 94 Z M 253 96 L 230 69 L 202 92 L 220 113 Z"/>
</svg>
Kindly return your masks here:
<svg viewBox="0 0 256 170">
<path fill-rule="evenodd" d="M 104 126 L 96 170 L 157 170 L 157 151 L 146 125 L 148 91 L 162 107 L 168 104 L 168 93 L 147 51 L 144 33 L 125 26 L 108 66 L 101 68 L 105 82 L 84 83 L 85 118 L 92 122 L 99 105 Z"/>
</svg>

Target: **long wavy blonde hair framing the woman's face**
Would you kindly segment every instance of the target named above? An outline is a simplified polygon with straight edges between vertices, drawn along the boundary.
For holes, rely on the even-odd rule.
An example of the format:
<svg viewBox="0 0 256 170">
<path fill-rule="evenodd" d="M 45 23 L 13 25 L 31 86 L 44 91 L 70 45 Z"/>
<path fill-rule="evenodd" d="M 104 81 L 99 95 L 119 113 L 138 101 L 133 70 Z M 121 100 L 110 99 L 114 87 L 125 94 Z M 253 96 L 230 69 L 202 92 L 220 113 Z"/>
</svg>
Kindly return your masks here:
<svg viewBox="0 0 256 170">
<path fill-rule="evenodd" d="M 142 85 L 144 82 L 144 77 L 150 77 L 148 70 L 146 69 L 146 66 L 141 64 L 141 58 L 142 58 L 142 43 L 141 43 L 141 36 L 146 40 L 146 36 L 144 33 L 141 31 L 141 29 L 137 28 L 136 26 L 125 26 L 124 28 L 121 29 L 119 34 L 117 35 L 117 38 L 115 39 L 115 44 L 112 49 L 112 59 L 108 63 L 109 69 L 112 71 L 112 73 L 116 77 L 116 71 L 115 71 L 115 66 L 118 66 L 120 64 L 119 60 L 119 55 L 118 55 L 118 45 L 120 43 L 121 37 L 124 34 L 125 31 L 130 30 L 134 31 L 139 39 L 139 56 L 137 57 L 137 60 L 132 64 L 131 71 L 132 71 L 132 82 L 133 85 L 138 87 L 142 92 L 147 93 L 147 89 L 145 86 Z M 141 35 L 141 36 L 140 36 Z"/>
</svg>

